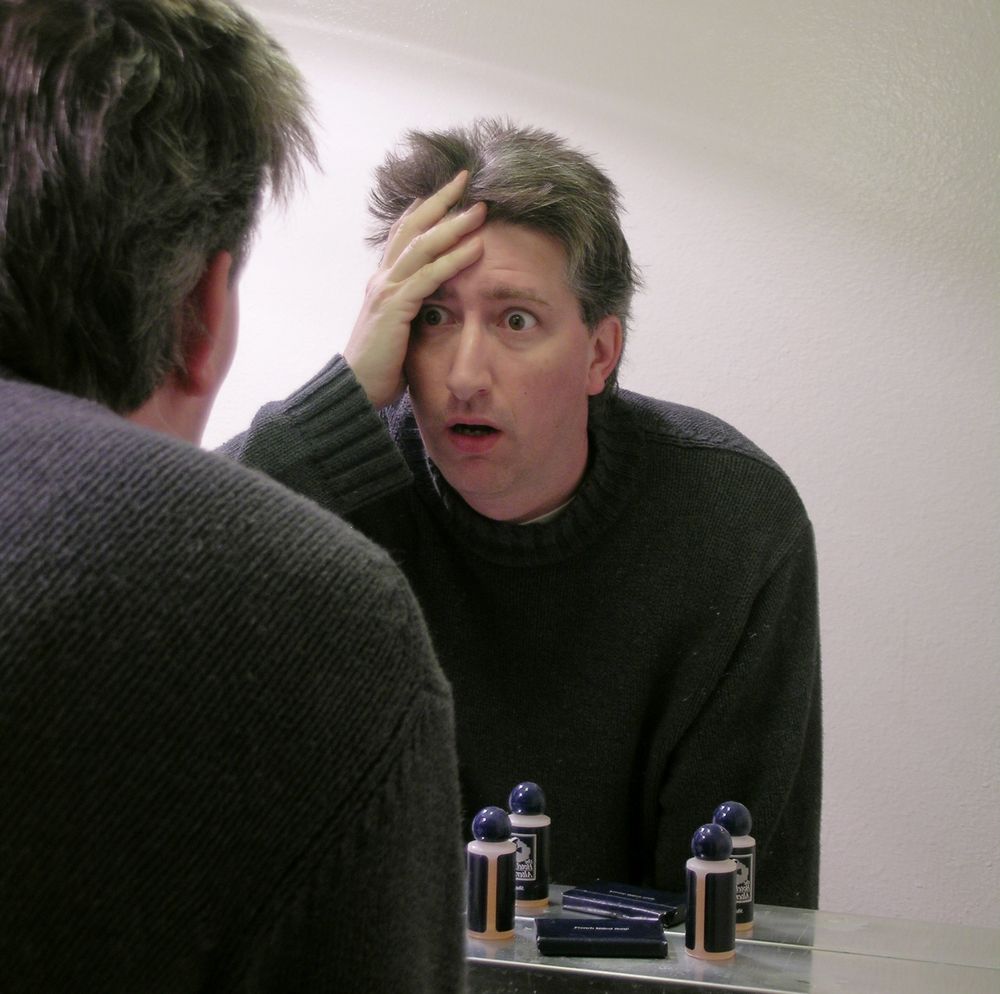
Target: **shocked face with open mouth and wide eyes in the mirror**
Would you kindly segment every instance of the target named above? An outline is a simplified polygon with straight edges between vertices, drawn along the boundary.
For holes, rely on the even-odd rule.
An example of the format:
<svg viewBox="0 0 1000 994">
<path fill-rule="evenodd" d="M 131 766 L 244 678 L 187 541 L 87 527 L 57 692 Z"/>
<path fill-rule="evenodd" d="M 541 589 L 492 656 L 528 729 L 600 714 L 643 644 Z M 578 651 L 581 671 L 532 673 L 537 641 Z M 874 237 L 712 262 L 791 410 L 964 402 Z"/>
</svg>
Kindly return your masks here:
<svg viewBox="0 0 1000 994">
<path fill-rule="evenodd" d="M 559 242 L 493 222 L 477 262 L 424 301 L 406 378 L 424 445 L 480 514 L 529 521 L 572 496 L 587 464 L 587 398 L 621 351 L 621 324 L 591 331 Z"/>
</svg>

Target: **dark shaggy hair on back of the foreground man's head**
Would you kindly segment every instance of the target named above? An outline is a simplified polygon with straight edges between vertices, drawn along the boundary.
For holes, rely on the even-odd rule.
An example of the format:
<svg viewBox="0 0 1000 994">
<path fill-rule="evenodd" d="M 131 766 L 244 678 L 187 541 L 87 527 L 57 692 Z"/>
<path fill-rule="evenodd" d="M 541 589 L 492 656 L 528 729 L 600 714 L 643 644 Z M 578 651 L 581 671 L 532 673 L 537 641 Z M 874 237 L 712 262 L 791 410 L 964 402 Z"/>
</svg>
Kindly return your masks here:
<svg viewBox="0 0 1000 994">
<path fill-rule="evenodd" d="M 206 262 L 313 157 L 228 0 L 0 0 L 0 365 L 120 413 L 183 370 Z"/>
</svg>

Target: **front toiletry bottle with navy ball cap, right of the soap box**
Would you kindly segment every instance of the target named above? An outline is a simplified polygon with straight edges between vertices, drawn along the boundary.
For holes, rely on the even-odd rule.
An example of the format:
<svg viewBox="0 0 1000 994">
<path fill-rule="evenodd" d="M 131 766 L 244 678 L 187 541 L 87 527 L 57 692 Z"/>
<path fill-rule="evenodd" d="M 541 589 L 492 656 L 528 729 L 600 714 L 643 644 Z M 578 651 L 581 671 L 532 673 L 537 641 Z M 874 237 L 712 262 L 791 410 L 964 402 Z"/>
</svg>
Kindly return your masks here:
<svg viewBox="0 0 1000 994">
<path fill-rule="evenodd" d="M 736 869 L 733 841 L 716 824 L 702 825 L 691 839 L 687 861 L 684 946 L 698 959 L 728 959 L 736 953 Z"/>
</svg>

